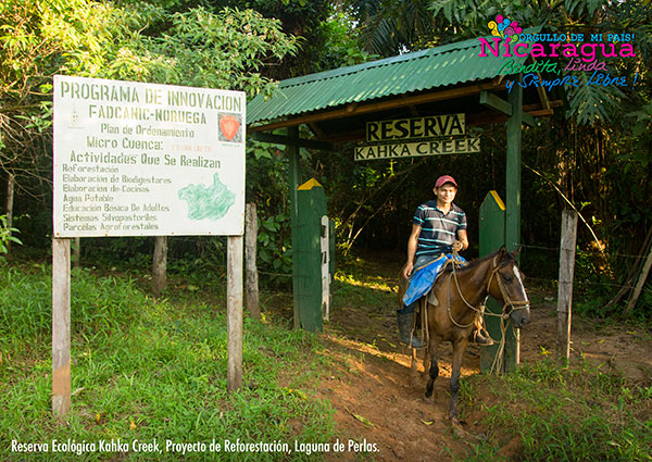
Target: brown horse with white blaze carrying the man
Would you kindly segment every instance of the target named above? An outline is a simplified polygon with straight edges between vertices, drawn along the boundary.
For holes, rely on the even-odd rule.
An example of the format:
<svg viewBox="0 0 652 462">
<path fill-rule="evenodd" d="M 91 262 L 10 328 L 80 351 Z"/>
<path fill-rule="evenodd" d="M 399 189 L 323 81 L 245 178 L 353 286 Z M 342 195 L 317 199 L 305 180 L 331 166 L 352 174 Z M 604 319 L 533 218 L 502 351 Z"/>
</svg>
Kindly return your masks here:
<svg viewBox="0 0 652 462">
<path fill-rule="evenodd" d="M 408 287 L 408 279 L 403 277 L 401 279 L 400 299 Z M 444 340 L 450 341 L 453 345 L 453 371 L 449 415 L 453 424 L 459 424 L 457 391 L 462 357 L 474 329 L 476 316 L 479 314 L 479 307 L 488 296 L 503 304 L 503 317 L 511 320 L 516 328 L 523 327 L 529 321 L 529 300 L 523 286 L 516 258 L 507 252 L 504 246 L 484 259 L 471 262 L 467 266 L 460 269 L 449 265 L 435 282 L 428 297 L 424 297 L 427 300 L 425 304 L 430 353 L 430 378 L 426 387 L 426 397 L 432 396 L 432 384 L 439 375 L 437 365 L 439 344 Z"/>
</svg>

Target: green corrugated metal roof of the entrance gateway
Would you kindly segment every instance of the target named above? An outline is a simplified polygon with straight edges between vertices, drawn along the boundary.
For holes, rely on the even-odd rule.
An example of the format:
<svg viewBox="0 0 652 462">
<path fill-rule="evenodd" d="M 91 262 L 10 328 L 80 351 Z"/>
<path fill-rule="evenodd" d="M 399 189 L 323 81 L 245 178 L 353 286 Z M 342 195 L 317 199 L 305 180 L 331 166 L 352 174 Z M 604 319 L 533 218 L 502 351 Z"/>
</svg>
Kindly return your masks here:
<svg viewBox="0 0 652 462">
<path fill-rule="evenodd" d="M 537 34 L 541 27 L 524 33 Z M 490 40 L 490 37 L 488 37 Z M 247 122 L 273 121 L 352 102 L 418 92 L 499 75 L 505 63 L 480 58 L 477 38 L 333 71 L 281 80 L 275 95 L 247 104 Z M 527 58 L 514 58 L 523 62 Z"/>
</svg>

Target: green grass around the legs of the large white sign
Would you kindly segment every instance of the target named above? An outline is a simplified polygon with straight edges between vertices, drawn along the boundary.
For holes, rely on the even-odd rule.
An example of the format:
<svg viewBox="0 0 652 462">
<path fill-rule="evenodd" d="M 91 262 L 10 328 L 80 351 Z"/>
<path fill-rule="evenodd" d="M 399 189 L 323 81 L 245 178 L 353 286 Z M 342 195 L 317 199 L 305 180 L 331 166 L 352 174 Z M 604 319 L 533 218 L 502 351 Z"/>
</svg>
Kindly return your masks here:
<svg viewBox="0 0 652 462">
<path fill-rule="evenodd" d="M 178 291 L 177 291 L 178 292 Z M 51 275 L 49 267 L 0 269 L 0 460 L 67 461 L 52 440 L 95 444 L 79 460 L 315 460 L 283 452 L 166 452 L 179 444 L 327 442 L 333 410 L 311 396 L 325 363 L 314 335 L 244 320 L 243 387 L 226 392 L 224 308 L 198 287 L 154 300 L 134 280 L 72 275 L 72 410 L 51 416 Z M 208 294 L 210 292 L 210 294 Z M 202 297 L 202 294 L 205 297 Z M 101 452 L 99 441 L 145 444 L 162 452 Z M 16 453 L 11 441 L 50 445 Z M 224 448 L 222 448 L 224 451 Z"/>
</svg>

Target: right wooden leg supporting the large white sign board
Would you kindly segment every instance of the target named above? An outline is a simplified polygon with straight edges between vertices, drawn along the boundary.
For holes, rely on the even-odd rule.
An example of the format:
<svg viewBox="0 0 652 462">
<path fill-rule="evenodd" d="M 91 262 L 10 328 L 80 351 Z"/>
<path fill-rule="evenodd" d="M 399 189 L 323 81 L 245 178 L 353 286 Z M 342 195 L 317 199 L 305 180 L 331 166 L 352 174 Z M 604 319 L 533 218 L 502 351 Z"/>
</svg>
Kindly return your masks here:
<svg viewBox="0 0 652 462">
<path fill-rule="evenodd" d="M 228 236 L 226 257 L 227 391 L 242 387 L 242 236 Z"/>
</svg>

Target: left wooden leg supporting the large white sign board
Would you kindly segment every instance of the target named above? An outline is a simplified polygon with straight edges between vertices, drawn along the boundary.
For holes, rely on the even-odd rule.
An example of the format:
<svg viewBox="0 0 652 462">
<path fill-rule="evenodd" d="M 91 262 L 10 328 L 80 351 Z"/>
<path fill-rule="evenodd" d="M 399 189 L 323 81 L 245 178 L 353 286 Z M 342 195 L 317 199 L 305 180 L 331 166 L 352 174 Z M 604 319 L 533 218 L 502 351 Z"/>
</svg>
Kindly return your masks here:
<svg viewBox="0 0 652 462">
<path fill-rule="evenodd" d="M 52 413 L 71 409 L 71 240 L 52 238 Z"/>
</svg>

